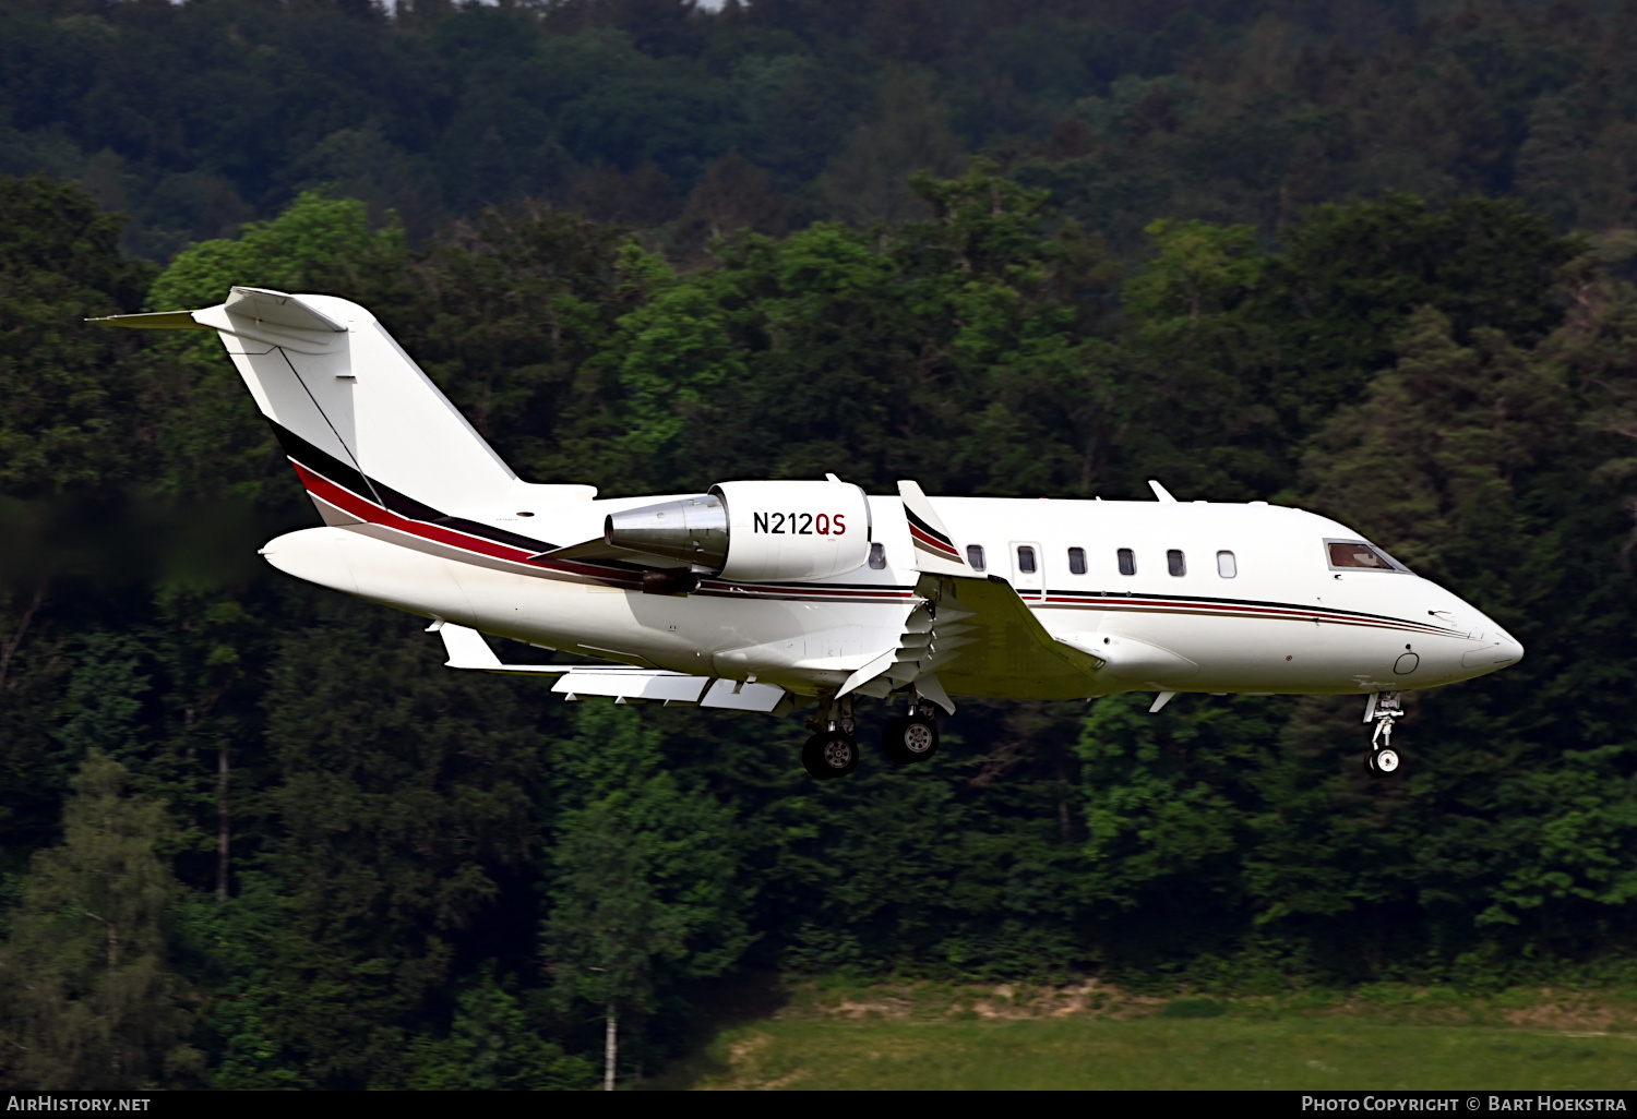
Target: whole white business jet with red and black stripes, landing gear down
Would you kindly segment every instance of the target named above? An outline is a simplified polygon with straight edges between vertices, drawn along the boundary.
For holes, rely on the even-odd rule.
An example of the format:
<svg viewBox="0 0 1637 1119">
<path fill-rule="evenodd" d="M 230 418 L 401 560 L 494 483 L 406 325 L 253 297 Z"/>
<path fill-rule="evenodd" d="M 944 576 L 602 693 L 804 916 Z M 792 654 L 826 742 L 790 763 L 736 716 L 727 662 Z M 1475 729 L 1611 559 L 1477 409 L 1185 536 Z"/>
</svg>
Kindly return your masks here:
<svg viewBox="0 0 1637 1119">
<path fill-rule="evenodd" d="M 1390 774 L 1406 690 L 1522 646 L 1334 520 L 1267 502 L 895 496 L 725 481 L 598 501 L 519 479 L 363 308 L 232 288 L 203 311 L 97 319 L 216 330 L 324 520 L 280 571 L 431 618 L 455 669 L 555 676 L 565 699 L 787 713 L 802 764 L 858 766 L 855 707 L 904 715 L 897 764 L 938 749 L 951 697 L 1362 694 Z M 598 658 L 503 664 L 485 633 Z"/>
</svg>

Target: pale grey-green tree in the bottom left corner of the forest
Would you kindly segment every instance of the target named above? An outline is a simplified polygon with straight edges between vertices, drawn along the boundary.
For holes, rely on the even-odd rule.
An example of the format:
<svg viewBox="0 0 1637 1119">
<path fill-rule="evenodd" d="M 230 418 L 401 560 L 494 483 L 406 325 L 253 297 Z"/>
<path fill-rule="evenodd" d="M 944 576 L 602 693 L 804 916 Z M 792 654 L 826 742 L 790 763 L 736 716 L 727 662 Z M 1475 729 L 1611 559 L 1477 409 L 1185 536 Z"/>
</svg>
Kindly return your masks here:
<svg viewBox="0 0 1637 1119">
<path fill-rule="evenodd" d="M 64 810 L 64 843 L 34 856 L 0 955 L 7 1063 L 41 1090 L 131 1090 L 190 1070 L 180 983 L 165 962 L 177 895 L 156 854 L 159 805 L 124 795 L 126 771 L 92 749 Z"/>
</svg>

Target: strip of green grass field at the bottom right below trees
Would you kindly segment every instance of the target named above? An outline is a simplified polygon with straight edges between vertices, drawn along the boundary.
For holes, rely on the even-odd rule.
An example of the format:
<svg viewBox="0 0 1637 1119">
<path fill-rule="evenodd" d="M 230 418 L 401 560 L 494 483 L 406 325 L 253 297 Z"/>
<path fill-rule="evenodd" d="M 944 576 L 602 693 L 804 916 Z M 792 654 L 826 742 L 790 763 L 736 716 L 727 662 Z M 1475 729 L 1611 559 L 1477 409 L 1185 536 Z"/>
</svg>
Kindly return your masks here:
<svg viewBox="0 0 1637 1119">
<path fill-rule="evenodd" d="M 1130 1018 L 848 1016 L 807 1004 L 720 1031 L 653 1086 L 1637 1088 L 1634 1031 L 1398 1018 L 1198 1000 Z"/>
</svg>

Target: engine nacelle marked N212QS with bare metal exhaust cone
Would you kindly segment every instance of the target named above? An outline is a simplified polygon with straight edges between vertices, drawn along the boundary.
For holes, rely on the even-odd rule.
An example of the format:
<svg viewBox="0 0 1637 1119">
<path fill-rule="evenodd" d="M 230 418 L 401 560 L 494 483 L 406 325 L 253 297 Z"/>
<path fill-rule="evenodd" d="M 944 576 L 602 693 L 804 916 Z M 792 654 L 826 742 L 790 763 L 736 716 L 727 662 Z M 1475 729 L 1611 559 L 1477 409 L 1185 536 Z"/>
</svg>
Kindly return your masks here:
<svg viewBox="0 0 1637 1119">
<path fill-rule="evenodd" d="M 738 481 L 609 514 L 602 540 L 724 579 L 823 579 L 869 560 L 869 501 L 838 481 Z"/>
</svg>

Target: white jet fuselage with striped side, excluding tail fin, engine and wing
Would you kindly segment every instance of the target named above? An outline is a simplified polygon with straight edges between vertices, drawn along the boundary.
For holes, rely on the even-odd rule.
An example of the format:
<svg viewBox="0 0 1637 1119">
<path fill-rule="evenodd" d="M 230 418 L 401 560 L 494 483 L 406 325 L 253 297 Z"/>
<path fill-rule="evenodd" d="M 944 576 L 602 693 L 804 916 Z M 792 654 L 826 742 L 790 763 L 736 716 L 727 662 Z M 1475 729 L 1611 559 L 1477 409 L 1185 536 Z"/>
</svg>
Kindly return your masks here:
<svg viewBox="0 0 1637 1119">
<path fill-rule="evenodd" d="M 601 533 L 609 512 L 661 501 L 581 501 L 468 520 L 583 540 Z M 1008 582 L 1054 638 L 1105 661 L 1094 674 L 1008 674 L 1003 663 L 982 676 L 945 672 L 949 694 L 1413 690 L 1522 656 L 1499 625 L 1427 579 L 1390 566 L 1336 566 L 1331 545 L 1362 538 L 1298 509 L 931 502 L 967 563 L 981 556 L 982 574 Z M 812 695 L 891 648 L 917 604 L 902 501 L 873 496 L 869 514 L 881 566 L 786 582 L 704 577 L 691 594 L 643 592 L 619 566 L 540 566 L 462 546 L 458 533 L 429 540 L 413 522 L 296 532 L 265 555 L 311 582 L 530 645 Z"/>
</svg>

